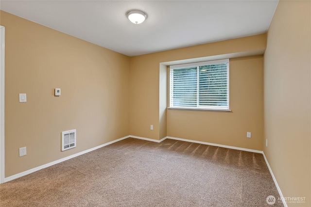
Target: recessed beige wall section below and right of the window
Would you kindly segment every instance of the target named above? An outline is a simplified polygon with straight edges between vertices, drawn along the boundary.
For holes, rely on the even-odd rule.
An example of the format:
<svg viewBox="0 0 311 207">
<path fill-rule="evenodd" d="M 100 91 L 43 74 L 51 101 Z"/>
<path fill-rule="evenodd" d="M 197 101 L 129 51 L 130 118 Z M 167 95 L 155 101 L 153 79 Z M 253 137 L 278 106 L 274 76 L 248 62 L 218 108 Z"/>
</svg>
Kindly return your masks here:
<svg viewBox="0 0 311 207">
<path fill-rule="evenodd" d="M 168 136 L 262 150 L 263 56 L 233 58 L 229 64 L 231 112 L 168 110 Z"/>
</svg>

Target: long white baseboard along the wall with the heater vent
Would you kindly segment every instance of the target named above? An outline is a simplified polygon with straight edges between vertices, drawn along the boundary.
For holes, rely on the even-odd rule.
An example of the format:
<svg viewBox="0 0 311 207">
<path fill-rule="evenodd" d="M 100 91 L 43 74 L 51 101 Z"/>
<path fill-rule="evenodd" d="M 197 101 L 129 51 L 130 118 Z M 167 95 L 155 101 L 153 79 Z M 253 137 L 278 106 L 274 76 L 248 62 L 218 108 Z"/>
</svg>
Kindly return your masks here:
<svg viewBox="0 0 311 207">
<path fill-rule="evenodd" d="M 91 152 L 91 151 L 93 151 L 93 150 L 96 150 L 96 149 L 99 149 L 99 148 L 101 148 L 101 147 L 107 146 L 107 145 L 109 145 L 109 144 L 119 142 L 119 141 L 124 140 L 124 139 L 126 139 L 126 138 L 129 138 L 129 136 L 122 137 L 122 138 L 120 138 L 120 139 L 111 141 L 111 142 L 109 142 L 109 143 L 104 143 L 104 144 L 102 144 L 102 145 L 99 145 L 99 146 L 96 146 L 96 147 L 87 149 L 87 150 L 85 150 L 85 151 L 76 153 L 76 154 L 74 154 L 74 155 L 70 155 L 70 156 L 68 156 L 68 157 L 66 157 L 66 158 L 62 158 L 62 159 L 58 159 L 58 160 L 52 161 L 52 162 L 50 162 L 50 163 L 47 163 L 47 164 L 44 164 L 44 165 L 35 167 L 35 168 L 33 168 L 33 169 L 30 169 L 30 170 L 27 170 L 27 171 L 18 173 L 18 174 L 16 174 L 16 175 L 12 175 L 12 176 L 9 176 L 9 177 L 5 177 L 5 178 L 4 178 L 4 183 L 5 183 L 5 182 L 8 182 L 8 181 L 11 181 L 11 180 L 14 180 L 14 179 L 16 179 L 16 178 L 18 178 L 18 177 L 22 177 L 22 176 L 24 176 L 24 175 L 28 175 L 28 174 L 34 173 L 34 172 L 36 172 L 36 171 L 38 171 L 38 170 L 42 170 L 42 169 L 44 169 L 44 168 L 50 167 L 50 166 L 52 166 L 52 165 L 54 165 L 54 164 L 58 164 L 58 163 L 60 163 L 60 162 L 66 161 L 66 160 L 68 160 L 68 159 L 78 157 L 79 155 L 86 154 L 86 153 L 88 153 L 88 152 Z"/>
</svg>

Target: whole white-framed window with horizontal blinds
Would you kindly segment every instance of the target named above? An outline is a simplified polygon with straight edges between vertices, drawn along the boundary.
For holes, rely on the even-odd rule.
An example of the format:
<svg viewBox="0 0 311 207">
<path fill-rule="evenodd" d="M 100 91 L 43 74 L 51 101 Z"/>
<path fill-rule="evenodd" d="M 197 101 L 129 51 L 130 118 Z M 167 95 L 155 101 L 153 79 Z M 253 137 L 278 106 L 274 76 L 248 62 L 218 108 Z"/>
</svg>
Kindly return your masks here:
<svg viewBox="0 0 311 207">
<path fill-rule="evenodd" d="M 229 110 L 229 59 L 170 66 L 170 108 Z"/>
</svg>

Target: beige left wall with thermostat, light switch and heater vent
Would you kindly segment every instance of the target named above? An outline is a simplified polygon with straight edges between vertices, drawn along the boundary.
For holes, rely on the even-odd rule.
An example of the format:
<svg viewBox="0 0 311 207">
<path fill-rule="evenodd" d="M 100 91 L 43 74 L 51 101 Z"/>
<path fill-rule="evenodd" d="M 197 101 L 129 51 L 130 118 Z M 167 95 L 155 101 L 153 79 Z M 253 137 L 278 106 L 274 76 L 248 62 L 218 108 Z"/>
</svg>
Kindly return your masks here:
<svg viewBox="0 0 311 207">
<path fill-rule="evenodd" d="M 129 57 L 5 12 L 0 24 L 5 177 L 129 135 Z M 61 132 L 69 129 L 77 129 L 77 147 L 61 152 Z M 27 156 L 18 157 L 23 146 Z"/>
</svg>

